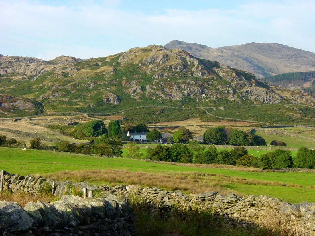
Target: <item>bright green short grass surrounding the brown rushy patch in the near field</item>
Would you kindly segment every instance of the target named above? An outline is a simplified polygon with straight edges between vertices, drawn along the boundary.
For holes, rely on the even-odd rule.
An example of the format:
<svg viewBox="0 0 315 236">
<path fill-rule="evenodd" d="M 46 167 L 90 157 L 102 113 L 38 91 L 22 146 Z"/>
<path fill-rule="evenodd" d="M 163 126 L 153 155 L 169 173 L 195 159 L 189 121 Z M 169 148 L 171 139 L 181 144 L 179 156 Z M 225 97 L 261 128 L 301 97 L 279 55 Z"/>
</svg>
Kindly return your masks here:
<svg viewBox="0 0 315 236">
<path fill-rule="evenodd" d="M 0 169 L 4 169 L 9 173 L 20 175 L 43 175 L 58 171 L 76 171 L 83 169 L 119 169 L 174 175 L 179 173 L 187 173 L 187 175 L 189 175 L 193 172 L 203 172 L 221 174 L 227 177 L 236 176 L 245 179 L 256 179 L 270 182 L 270 185 L 226 183 L 226 188 L 231 189 L 231 192 L 236 190 L 244 194 L 269 195 L 291 203 L 315 201 L 315 188 L 309 188 L 309 186 L 315 184 L 314 173 L 249 172 L 188 167 L 126 158 L 106 158 L 32 149 L 21 151 L 21 149 L 4 147 L 0 147 L 0 153 Z M 286 184 L 298 184 L 302 187 L 272 186 L 273 181 Z"/>
</svg>

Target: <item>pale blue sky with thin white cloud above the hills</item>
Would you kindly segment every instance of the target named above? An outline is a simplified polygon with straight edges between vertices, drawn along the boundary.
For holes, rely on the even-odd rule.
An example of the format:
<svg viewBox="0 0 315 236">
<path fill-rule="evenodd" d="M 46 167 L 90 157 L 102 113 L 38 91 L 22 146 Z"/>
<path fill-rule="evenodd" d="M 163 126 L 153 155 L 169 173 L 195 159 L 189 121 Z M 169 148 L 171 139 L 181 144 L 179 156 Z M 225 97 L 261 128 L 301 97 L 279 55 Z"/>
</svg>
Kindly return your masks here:
<svg viewBox="0 0 315 236">
<path fill-rule="evenodd" d="M 172 40 L 315 52 L 314 0 L 0 0 L 0 54 L 88 59 Z"/>
</svg>

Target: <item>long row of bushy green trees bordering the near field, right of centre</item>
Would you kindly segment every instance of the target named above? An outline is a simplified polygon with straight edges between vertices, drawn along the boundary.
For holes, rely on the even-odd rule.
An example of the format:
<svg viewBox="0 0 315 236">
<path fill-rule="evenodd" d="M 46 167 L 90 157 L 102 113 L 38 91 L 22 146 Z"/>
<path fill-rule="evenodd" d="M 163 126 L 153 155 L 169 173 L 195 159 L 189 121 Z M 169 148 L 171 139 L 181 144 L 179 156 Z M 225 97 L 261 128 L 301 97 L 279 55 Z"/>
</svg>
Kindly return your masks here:
<svg viewBox="0 0 315 236">
<path fill-rule="evenodd" d="M 248 166 L 260 169 L 278 168 L 307 168 L 315 169 L 315 150 L 305 147 L 298 149 L 297 155 L 292 157 L 291 151 L 276 149 L 260 157 L 248 154 L 245 147 L 234 147 L 232 150 L 218 152 L 212 145 L 208 149 L 193 141 L 187 145 L 176 143 L 172 146 L 157 145 L 148 148 L 147 158 L 155 161 L 170 161 L 198 164 L 224 164 L 232 166 Z"/>
</svg>

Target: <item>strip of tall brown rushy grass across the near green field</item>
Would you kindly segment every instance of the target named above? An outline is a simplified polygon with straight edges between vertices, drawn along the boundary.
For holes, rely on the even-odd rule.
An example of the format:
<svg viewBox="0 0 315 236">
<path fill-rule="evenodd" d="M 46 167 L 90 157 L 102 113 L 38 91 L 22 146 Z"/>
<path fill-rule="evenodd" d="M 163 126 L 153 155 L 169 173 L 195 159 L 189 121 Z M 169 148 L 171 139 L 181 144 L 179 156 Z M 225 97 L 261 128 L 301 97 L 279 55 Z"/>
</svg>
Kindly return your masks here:
<svg viewBox="0 0 315 236">
<path fill-rule="evenodd" d="M 237 176 L 227 176 L 224 174 L 199 173 L 199 172 L 179 172 L 179 173 L 148 173 L 133 172 L 126 170 L 81 170 L 81 171 L 60 171 L 45 174 L 44 177 L 54 180 L 72 180 L 76 182 L 88 181 L 95 184 L 107 183 L 111 186 L 117 184 L 136 184 L 143 187 L 157 186 L 159 188 L 189 193 L 218 191 L 226 195 L 233 191 L 238 196 L 244 196 L 241 191 L 232 190 L 230 185 L 252 185 L 252 186 L 288 186 L 300 188 L 298 184 L 286 184 L 278 181 L 261 181 L 257 179 L 247 179 Z"/>
</svg>

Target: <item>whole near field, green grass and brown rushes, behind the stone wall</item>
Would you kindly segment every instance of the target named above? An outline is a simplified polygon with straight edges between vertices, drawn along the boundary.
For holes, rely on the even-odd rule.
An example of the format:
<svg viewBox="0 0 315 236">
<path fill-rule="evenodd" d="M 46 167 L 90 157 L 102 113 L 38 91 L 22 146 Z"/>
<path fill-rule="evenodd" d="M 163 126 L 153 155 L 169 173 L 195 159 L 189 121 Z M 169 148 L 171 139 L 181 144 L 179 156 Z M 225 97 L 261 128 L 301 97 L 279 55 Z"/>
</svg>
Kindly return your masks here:
<svg viewBox="0 0 315 236">
<path fill-rule="evenodd" d="M 222 194 L 234 192 L 237 195 L 269 195 L 291 203 L 315 201 L 314 173 L 256 172 L 253 168 L 243 168 L 248 171 L 242 171 L 231 166 L 224 168 L 216 165 L 169 165 L 126 158 L 31 149 L 21 151 L 4 147 L 0 147 L 0 153 L 0 169 L 20 175 L 57 176 L 60 180 L 86 180 L 95 184 L 135 183 L 180 189 L 186 193 L 217 190 Z M 89 171 L 83 174 L 83 170 Z M 96 171 L 95 177 L 92 177 L 92 170 Z"/>
</svg>

